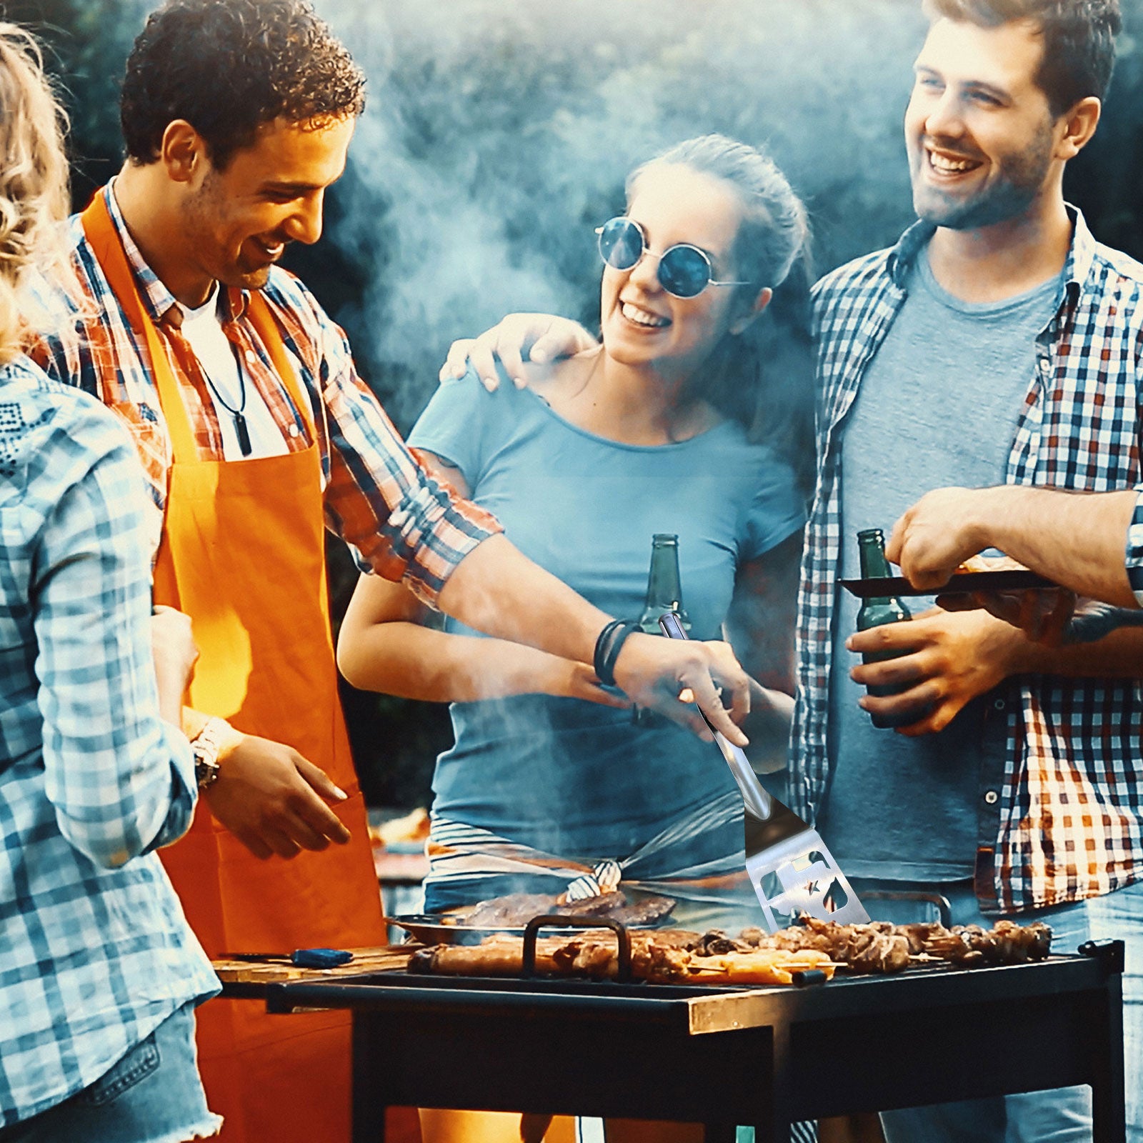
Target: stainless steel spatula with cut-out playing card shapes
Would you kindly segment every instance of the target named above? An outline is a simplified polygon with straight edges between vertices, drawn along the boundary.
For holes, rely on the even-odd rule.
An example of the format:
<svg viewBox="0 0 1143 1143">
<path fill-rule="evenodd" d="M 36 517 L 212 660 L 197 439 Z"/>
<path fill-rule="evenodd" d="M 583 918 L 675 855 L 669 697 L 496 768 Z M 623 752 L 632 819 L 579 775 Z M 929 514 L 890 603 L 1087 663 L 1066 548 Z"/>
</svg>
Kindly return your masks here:
<svg viewBox="0 0 1143 1143">
<path fill-rule="evenodd" d="M 687 638 L 673 612 L 661 615 L 658 625 L 671 639 Z M 762 906 L 766 927 L 776 933 L 799 913 L 844 925 L 868 924 L 869 913 L 818 832 L 770 797 L 742 749 L 716 730 L 705 714 L 703 720 L 742 791 L 746 874 Z"/>
</svg>

